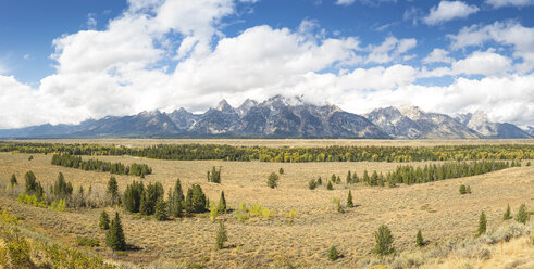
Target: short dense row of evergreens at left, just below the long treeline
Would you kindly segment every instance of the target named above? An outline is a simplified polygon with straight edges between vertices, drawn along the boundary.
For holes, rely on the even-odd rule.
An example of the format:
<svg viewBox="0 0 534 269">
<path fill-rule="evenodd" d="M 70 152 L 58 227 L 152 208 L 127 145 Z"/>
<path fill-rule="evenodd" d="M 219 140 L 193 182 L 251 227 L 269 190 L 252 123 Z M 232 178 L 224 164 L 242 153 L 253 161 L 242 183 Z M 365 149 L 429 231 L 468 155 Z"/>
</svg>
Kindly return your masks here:
<svg viewBox="0 0 534 269">
<path fill-rule="evenodd" d="M 126 166 L 121 163 L 103 162 L 95 158 L 83 161 L 82 157 L 70 154 L 54 154 L 52 156 L 52 165 L 72 167 L 86 171 L 109 171 L 116 175 L 135 175 L 139 177 L 152 174 L 152 168 L 146 164 Z"/>
</svg>

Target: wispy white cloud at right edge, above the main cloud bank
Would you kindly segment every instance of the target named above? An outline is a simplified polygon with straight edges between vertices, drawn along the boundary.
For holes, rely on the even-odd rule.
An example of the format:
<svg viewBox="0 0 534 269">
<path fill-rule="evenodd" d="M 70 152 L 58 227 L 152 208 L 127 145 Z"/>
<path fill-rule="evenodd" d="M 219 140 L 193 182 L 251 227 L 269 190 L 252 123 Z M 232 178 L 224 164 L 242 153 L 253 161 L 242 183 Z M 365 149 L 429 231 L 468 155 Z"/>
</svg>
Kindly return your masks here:
<svg viewBox="0 0 534 269">
<path fill-rule="evenodd" d="M 513 57 L 520 59 L 514 68 L 520 73 L 534 69 L 534 28 L 524 27 L 516 22 L 496 22 L 492 25 L 462 28 L 458 35 L 449 35 L 454 50 L 467 47 L 481 47 L 488 41 L 500 46 L 512 46 Z"/>
</svg>

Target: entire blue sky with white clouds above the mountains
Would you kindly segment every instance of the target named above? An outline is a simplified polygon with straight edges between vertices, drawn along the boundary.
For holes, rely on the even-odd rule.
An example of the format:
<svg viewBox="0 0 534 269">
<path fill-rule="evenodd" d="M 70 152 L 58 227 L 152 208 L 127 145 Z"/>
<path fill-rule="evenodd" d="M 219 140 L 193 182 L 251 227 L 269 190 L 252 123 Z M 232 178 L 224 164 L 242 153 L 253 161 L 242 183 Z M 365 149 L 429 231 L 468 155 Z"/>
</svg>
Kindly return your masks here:
<svg viewBox="0 0 534 269">
<path fill-rule="evenodd" d="M 276 94 L 534 125 L 534 0 L 0 0 L 0 128 Z"/>
</svg>

